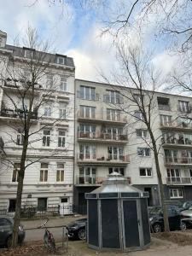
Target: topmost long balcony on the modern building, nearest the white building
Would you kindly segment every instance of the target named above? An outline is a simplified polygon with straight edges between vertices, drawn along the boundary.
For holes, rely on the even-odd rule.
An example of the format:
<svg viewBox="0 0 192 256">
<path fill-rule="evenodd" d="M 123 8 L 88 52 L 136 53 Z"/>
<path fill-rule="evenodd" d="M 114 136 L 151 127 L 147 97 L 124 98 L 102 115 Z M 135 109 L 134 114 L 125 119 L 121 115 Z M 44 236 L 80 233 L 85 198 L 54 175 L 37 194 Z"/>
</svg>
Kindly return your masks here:
<svg viewBox="0 0 192 256">
<path fill-rule="evenodd" d="M 84 115 L 78 112 L 77 117 L 79 121 L 86 123 L 105 123 L 108 125 L 125 125 L 127 123 L 125 116 L 114 115 L 108 117 L 107 112 L 94 113 L 92 115 Z"/>
</svg>

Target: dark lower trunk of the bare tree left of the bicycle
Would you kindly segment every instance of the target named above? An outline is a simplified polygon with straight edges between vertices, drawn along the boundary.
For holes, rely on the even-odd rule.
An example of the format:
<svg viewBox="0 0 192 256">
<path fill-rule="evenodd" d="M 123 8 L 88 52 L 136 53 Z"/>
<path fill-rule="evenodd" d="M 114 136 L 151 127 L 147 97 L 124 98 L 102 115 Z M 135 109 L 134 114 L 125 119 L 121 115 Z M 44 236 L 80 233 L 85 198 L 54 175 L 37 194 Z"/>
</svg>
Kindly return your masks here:
<svg viewBox="0 0 192 256">
<path fill-rule="evenodd" d="M 16 205 L 15 205 L 12 247 L 16 247 L 18 243 L 18 232 L 19 232 L 19 225 L 20 225 L 20 208 L 21 208 L 21 198 L 22 198 L 22 191 L 23 191 L 23 180 L 25 176 L 27 144 L 28 144 L 28 138 L 24 137 L 22 155 L 20 159 L 20 171 L 18 172 L 17 198 L 16 198 Z"/>
</svg>

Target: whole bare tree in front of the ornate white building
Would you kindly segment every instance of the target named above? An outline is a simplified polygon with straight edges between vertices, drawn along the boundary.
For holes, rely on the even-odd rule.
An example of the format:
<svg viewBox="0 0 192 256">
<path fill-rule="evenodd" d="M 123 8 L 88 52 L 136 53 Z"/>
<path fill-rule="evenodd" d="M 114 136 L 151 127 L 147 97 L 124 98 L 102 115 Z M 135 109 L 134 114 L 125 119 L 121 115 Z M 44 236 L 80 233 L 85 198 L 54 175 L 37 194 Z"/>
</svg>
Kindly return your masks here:
<svg viewBox="0 0 192 256">
<path fill-rule="evenodd" d="M 41 41 L 38 32 L 28 27 L 24 43 L 27 48 L 15 47 L 13 54 L 9 56 L 2 55 L 0 60 L 3 67 L 1 69 L 1 89 L 3 90 L 1 115 L 5 119 L 6 117 L 17 119 L 17 122 L 6 122 L 12 132 L 9 132 L 9 129 L 2 132 L 5 133 L 7 138 L 9 137 L 7 143 L 19 143 L 21 147 L 20 165 L 15 166 L 15 172 L 18 172 L 18 185 L 12 239 L 13 247 L 16 247 L 18 242 L 21 197 L 26 168 L 47 157 L 40 155 L 36 158 L 30 158 L 28 149 L 35 150 L 35 143 L 42 141 L 40 133 L 49 124 L 44 123 L 39 127 L 37 123 L 43 116 L 49 116 L 51 111 L 49 102 L 53 100 L 55 90 L 58 90 L 59 86 L 57 79 L 54 79 L 53 76 L 44 83 L 45 76 L 51 75 L 51 63 L 55 61 L 55 55 L 48 54 L 48 41 Z M 46 88 L 44 88 L 44 84 L 46 84 Z M 45 106 L 47 108 L 44 108 Z M 63 115 L 66 115 L 66 112 Z M 51 125 L 58 124 L 61 119 L 53 119 Z M 19 134 L 19 137 L 15 138 L 15 134 Z M 50 143 L 50 141 L 43 138 L 43 143 Z M 57 154 L 56 150 L 50 156 L 55 154 Z M 13 165 L 13 161 L 6 157 L 3 164 Z"/>
</svg>

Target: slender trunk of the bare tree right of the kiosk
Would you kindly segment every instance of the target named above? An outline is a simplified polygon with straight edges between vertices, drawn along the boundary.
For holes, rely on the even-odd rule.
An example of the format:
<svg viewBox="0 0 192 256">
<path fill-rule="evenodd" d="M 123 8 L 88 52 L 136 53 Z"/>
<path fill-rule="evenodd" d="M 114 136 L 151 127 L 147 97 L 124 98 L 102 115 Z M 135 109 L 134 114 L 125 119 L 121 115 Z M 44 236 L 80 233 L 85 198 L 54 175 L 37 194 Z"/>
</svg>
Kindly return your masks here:
<svg viewBox="0 0 192 256">
<path fill-rule="evenodd" d="M 150 133 L 150 131 L 149 131 L 149 133 Z M 169 228 L 168 212 L 167 212 L 167 206 L 166 206 L 166 202 L 165 202 L 165 194 L 164 194 L 164 188 L 163 188 L 163 183 L 162 183 L 162 177 L 161 177 L 161 173 L 160 173 L 160 163 L 159 163 L 159 159 L 158 159 L 158 152 L 157 152 L 157 147 L 156 147 L 156 143 L 155 143 L 153 134 L 150 133 L 150 136 L 151 136 L 151 140 L 152 140 L 152 144 L 153 144 L 153 148 L 154 148 L 154 161 L 155 161 L 156 172 L 157 172 L 159 188 L 160 188 L 160 203 L 161 203 L 161 207 L 163 210 L 164 230 L 165 230 L 165 232 L 169 232 L 170 228 Z"/>
</svg>

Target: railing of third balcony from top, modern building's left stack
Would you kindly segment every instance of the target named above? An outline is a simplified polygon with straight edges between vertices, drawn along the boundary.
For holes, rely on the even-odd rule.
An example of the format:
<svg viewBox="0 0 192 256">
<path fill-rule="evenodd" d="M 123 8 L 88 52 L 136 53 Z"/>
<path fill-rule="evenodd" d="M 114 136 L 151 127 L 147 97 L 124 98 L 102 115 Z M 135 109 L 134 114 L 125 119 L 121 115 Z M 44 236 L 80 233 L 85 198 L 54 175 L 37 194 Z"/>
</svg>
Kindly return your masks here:
<svg viewBox="0 0 192 256">
<path fill-rule="evenodd" d="M 78 154 L 77 159 L 79 162 L 94 162 L 94 163 L 128 163 L 130 161 L 129 155 L 108 154 Z"/>
</svg>

